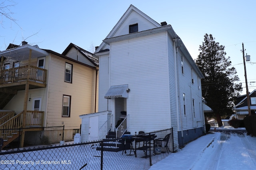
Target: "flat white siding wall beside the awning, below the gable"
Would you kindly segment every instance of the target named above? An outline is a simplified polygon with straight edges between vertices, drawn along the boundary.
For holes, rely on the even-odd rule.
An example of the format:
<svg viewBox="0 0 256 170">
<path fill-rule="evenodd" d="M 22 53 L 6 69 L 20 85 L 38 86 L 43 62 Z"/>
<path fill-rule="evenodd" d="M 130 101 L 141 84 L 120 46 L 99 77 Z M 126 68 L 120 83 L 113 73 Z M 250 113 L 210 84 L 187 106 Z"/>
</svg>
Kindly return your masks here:
<svg viewBox="0 0 256 170">
<path fill-rule="evenodd" d="M 162 32 L 110 45 L 110 86 L 128 84 L 130 88 L 131 133 L 170 128 L 166 41 L 166 32 Z"/>
</svg>

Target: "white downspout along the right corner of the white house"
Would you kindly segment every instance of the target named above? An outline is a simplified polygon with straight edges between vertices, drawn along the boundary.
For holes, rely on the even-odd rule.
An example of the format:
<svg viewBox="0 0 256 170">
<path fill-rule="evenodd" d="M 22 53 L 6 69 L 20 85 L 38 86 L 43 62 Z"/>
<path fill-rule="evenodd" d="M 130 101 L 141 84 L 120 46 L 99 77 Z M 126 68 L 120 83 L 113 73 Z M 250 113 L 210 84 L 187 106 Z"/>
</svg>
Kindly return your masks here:
<svg viewBox="0 0 256 170">
<path fill-rule="evenodd" d="M 180 122 L 179 119 L 177 119 L 178 123 L 178 131 L 181 131 L 181 138 L 182 138 L 182 146 L 183 146 L 183 128 L 182 128 L 182 115 L 181 115 L 181 109 L 180 109 L 180 104 L 179 104 L 179 94 L 178 94 L 178 72 L 177 72 L 177 49 L 176 49 L 176 41 L 177 39 L 173 39 L 173 46 L 174 46 L 174 73 L 175 73 L 175 89 L 176 89 L 176 110 L 177 110 L 177 117 L 180 117 Z M 178 105 L 179 104 L 179 105 Z M 180 116 L 179 116 L 180 112 Z"/>
</svg>

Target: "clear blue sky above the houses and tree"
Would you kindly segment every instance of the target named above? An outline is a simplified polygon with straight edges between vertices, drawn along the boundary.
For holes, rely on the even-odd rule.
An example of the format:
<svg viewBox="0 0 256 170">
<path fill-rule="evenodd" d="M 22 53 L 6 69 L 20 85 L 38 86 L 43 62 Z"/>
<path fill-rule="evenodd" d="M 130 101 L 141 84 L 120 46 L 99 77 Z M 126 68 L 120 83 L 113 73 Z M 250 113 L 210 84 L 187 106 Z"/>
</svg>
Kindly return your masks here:
<svg viewBox="0 0 256 170">
<path fill-rule="evenodd" d="M 3 2 L 3 0 L 0 0 Z M 249 91 L 256 89 L 256 2 L 254 0 L 26 0 L 10 7 L 15 23 L 3 18 L 0 51 L 24 39 L 42 49 L 62 53 L 69 43 L 91 51 L 99 46 L 130 4 L 160 23 L 172 25 L 193 59 L 199 54 L 205 33 L 225 46 L 246 94 L 242 43 L 251 56 L 246 62 Z M 6 1 L 5 4 L 10 4 Z M 36 33 L 36 35 L 34 35 Z M 31 36 L 31 37 L 30 37 Z"/>
</svg>

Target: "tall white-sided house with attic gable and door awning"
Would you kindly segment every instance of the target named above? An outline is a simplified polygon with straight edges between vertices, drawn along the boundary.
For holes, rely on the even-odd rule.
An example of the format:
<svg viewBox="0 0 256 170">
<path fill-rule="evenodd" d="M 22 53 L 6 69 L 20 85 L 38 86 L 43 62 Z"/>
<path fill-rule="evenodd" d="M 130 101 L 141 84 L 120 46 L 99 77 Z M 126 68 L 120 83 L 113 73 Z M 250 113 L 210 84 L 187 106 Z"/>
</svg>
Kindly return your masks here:
<svg viewBox="0 0 256 170">
<path fill-rule="evenodd" d="M 103 122 L 97 114 L 107 116 L 92 130 L 89 115 L 81 115 L 82 141 L 89 139 L 88 129 L 98 139 L 104 137 L 102 127 L 113 131 L 121 111 L 127 115 L 122 127 L 131 134 L 173 127 L 175 150 L 203 135 L 204 77 L 171 25 L 160 25 L 130 5 L 95 54 L 99 56 L 99 113 L 90 117 Z"/>
</svg>

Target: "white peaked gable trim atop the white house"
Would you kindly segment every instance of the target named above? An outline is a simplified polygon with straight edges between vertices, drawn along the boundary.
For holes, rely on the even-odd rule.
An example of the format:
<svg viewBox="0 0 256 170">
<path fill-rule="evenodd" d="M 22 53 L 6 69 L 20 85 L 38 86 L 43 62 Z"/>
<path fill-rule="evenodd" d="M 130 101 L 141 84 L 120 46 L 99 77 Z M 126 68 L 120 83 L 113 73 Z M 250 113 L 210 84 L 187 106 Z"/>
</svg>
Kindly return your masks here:
<svg viewBox="0 0 256 170">
<path fill-rule="evenodd" d="M 119 27 L 122 25 L 122 23 L 124 23 L 124 21 L 131 14 L 132 11 L 137 12 L 138 14 L 140 14 L 142 17 L 144 17 L 146 20 L 148 20 L 150 23 L 152 23 L 156 27 L 161 27 L 161 25 L 159 23 L 157 23 L 155 20 L 153 20 L 152 18 L 150 18 L 149 16 L 147 16 L 146 14 L 144 14 L 142 11 L 138 10 L 138 8 L 136 8 L 135 6 L 133 6 L 131 4 L 105 39 L 112 38 L 114 36 L 116 31 L 119 29 Z M 98 53 L 99 51 L 101 51 L 105 46 L 106 46 L 106 43 L 102 42 L 100 44 L 100 46 L 98 47 L 98 49 L 95 51 L 95 53 Z"/>
</svg>

